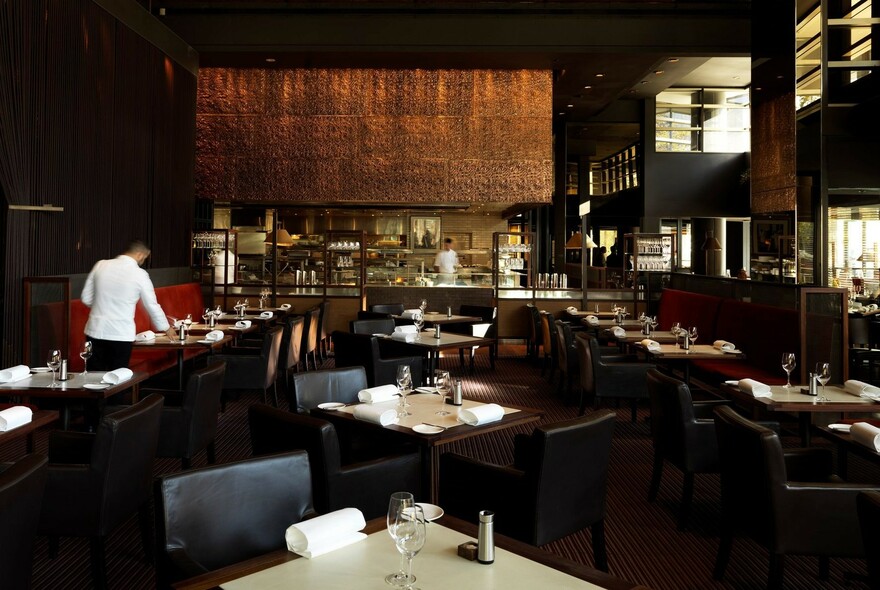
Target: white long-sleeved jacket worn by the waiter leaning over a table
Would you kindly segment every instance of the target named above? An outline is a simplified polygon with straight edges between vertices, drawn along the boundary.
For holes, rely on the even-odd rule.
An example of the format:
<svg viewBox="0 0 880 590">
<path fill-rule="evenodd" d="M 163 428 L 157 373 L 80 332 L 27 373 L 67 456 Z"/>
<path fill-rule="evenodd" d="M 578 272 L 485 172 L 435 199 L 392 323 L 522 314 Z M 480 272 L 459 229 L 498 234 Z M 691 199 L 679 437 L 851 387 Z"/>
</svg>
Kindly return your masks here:
<svg viewBox="0 0 880 590">
<path fill-rule="evenodd" d="M 92 267 L 81 299 L 91 308 L 85 333 L 92 338 L 133 342 L 138 299 L 143 301 L 154 328 L 164 332 L 170 327 L 162 306 L 156 301 L 150 275 L 125 254 L 112 260 L 99 260 Z"/>
</svg>

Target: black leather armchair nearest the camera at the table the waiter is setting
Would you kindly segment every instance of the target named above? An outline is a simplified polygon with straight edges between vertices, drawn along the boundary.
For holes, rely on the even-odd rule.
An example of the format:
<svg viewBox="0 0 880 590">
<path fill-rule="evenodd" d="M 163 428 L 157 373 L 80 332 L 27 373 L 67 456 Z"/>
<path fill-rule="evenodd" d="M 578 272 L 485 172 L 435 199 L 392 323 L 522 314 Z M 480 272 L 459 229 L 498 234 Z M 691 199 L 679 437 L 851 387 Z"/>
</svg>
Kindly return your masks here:
<svg viewBox="0 0 880 590">
<path fill-rule="evenodd" d="M 213 355 L 212 360 L 226 363 L 223 391 L 261 389 L 263 401 L 268 401 L 269 390 L 278 405 L 278 354 L 281 350 L 283 328 L 273 326 L 263 334 L 259 349 L 230 348 Z M 222 405 L 222 402 L 221 402 Z"/>
</svg>

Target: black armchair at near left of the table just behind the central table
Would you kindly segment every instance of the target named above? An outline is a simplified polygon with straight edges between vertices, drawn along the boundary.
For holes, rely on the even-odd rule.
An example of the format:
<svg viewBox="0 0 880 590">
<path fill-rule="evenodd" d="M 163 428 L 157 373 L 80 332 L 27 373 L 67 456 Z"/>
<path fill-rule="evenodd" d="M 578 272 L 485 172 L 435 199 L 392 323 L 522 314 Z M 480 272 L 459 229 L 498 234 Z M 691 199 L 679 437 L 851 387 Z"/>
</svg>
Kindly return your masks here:
<svg viewBox="0 0 880 590">
<path fill-rule="evenodd" d="M 367 383 L 370 387 L 396 383 L 398 365 L 409 365 L 414 380 L 416 376 L 420 376 L 419 383 L 423 380 L 422 356 L 385 356 L 375 336 L 335 331 L 333 350 L 336 354 L 336 366 L 363 367 L 367 371 Z"/>
</svg>

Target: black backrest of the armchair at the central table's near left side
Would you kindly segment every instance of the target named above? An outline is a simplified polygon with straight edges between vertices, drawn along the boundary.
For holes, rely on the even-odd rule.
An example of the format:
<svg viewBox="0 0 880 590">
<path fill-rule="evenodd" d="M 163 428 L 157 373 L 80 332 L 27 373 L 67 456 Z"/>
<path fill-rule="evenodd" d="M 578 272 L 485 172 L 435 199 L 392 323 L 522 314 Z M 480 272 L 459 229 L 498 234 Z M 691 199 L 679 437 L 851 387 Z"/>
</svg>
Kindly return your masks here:
<svg viewBox="0 0 880 590">
<path fill-rule="evenodd" d="M 265 404 L 248 407 L 248 425 L 254 456 L 302 449 L 309 454 L 315 510 L 329 512 L 328 482 L 342 467 L 339 437 L 330 422 L 293 414 Z"/>
</svg>

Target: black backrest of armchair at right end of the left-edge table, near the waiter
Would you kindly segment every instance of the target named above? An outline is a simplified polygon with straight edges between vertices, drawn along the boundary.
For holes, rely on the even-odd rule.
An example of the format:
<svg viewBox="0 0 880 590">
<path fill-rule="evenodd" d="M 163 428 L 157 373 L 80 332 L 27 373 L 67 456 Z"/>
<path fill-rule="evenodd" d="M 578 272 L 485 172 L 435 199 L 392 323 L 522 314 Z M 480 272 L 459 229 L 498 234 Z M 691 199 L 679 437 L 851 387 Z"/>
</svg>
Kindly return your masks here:
<svg viewBox="0 0 880 590">
<path fill-rule="evenodd" d="M 224 362 L 211 363 L 204 369 L 190 373 L 182 403 L 186 448 L 181 451 L 187 457 L 205 448 L 217 435 L 217 414 L 220 412 L 225 373 Z"/>
</svg>

